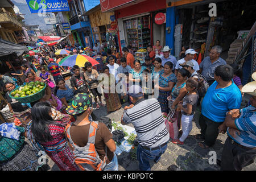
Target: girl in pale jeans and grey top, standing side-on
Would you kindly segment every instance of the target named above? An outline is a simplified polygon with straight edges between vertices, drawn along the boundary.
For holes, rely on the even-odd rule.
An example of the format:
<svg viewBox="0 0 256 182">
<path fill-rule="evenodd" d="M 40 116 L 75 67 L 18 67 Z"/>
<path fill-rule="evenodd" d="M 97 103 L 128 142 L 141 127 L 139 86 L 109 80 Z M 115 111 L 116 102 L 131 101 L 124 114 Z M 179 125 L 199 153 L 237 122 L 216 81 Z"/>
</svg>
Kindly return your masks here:
<svg viewBox="0 0 256 182">
<path fill-rule="evenodd" d="M 177 110 L 181 111 L 181 125 L 182 125 L 182 135 L 179 139 L 172 140 L 175 144 L 184 144 L 184 140 L 188 137 L 188 134 L 192 130 L 192 119 L 196 110 L 197 100 L 199 94 L 197 89 L 202 86 L 196 78 L 188 78 L 186 81 L 186 89 L 188 91 L 187 95 L 184 97 L 183 102 L 179 103 Z"/>
</svg>

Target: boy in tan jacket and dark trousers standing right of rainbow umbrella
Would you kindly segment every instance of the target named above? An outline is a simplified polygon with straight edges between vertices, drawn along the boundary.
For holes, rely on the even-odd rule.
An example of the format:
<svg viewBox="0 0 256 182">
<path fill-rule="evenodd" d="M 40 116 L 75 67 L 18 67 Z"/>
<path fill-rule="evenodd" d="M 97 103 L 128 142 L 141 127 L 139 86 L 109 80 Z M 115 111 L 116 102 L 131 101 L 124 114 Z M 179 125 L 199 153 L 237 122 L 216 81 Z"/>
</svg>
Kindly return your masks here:
<svg viewBox="0 0 256 182">
<path fill-rule="evenodd" d="M 98 72 L 96 71 L 96 69 L 92 69 L 92 63 L 90 62 L 86 62 L 84 64 L 84 67 L 86 70 L 84 72 L 84 78 L 86 80 L 86 82 L 89 84 L 90 90 L 92 91 L 94 100 L 96 102 L 96 109 L 100 109 L 100 105 L 101 106 L 105 106 L 104 104 L 102 104 L 102 100 L 101 100 L 101 96 L 102 94 L 100 92 L 98 92 Z M 97 96 L 98 99 L 100 100 L 100 105 L 98 103 L 97 100 Z"/>
</svg>

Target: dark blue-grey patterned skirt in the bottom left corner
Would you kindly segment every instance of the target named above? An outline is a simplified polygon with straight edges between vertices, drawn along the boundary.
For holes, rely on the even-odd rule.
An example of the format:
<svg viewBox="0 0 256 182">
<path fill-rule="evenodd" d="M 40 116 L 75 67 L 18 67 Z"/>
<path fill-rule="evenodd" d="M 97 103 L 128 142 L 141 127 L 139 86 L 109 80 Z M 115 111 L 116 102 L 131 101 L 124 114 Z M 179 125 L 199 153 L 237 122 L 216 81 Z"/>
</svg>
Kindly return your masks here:
<svg viewBox="0 0 256 182">
<path fill-rule="evenodd" d="M 37 171 L 38 167 L 38 157 L 27 142 L 24 142 L 23 147 L 13 158 L 0 163 L 0 171 Z"/>
</svg>

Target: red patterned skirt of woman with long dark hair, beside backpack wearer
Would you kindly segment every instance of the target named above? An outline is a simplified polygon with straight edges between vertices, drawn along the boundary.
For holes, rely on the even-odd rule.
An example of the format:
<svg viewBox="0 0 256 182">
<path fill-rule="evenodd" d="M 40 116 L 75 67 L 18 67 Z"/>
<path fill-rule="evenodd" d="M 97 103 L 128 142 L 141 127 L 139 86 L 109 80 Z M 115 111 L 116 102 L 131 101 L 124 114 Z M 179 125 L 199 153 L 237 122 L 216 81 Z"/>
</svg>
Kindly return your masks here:
<svg viewBox="0 0 256 182">
<path fill-rule="evenodd" d="M 66 145 L 60 152 L 47 152 L 47 155 L 55 162 L 61 171 L 79 171 L 73 152 Z"/>
</svg>

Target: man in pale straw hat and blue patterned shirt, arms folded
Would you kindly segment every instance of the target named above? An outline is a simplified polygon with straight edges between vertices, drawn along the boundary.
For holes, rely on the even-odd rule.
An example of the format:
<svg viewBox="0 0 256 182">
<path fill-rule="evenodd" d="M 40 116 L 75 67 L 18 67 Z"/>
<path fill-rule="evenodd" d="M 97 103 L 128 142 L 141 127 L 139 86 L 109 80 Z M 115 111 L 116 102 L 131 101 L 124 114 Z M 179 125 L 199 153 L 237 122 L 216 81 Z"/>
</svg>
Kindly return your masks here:
<svg viewBox="0 0 256 182">
<path fill-rule="evenodd" d="M 242 88 L 243 93 L 252 96 L 251 105 L 230 110 L 219 127 L 220 133 L 228 133 L 222 151 L 222 171 L 241 171 L 252 164 L 256 156 L 256 72 L 252 77 L 255 81 Z"/>
</svg>

